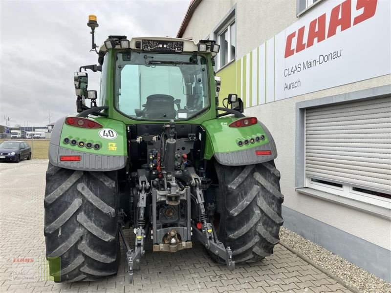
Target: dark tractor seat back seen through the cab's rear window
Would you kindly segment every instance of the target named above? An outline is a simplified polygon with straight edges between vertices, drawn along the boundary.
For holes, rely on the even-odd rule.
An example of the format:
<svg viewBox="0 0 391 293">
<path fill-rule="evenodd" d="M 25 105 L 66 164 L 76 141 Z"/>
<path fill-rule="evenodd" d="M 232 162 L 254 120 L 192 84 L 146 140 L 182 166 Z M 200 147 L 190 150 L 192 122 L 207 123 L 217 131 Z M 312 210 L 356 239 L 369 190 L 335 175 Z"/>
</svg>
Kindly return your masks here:
<svg viewBox="0 0 391 293">
<path fill-rule="evenodd" d="M 144 118 L 153 119 L 174 119 L 176 111 L 174 108 L 174 97 L 170 95 L 150 95 L 144 106 Z"/>
</svg>

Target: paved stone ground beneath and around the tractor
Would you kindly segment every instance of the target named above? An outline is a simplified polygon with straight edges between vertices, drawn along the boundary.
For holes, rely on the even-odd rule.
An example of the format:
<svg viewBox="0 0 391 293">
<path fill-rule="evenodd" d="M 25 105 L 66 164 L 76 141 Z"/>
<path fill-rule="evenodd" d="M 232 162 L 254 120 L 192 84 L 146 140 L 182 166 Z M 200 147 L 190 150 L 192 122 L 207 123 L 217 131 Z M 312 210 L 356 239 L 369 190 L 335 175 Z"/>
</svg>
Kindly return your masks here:
<svg viewBox="0 0 391 293">
<path fill-rule="evenodd" d="M 192 250 L 174 254 L 152 253 L 147 243 L 134 285 L 128 283 L 124 257 L 116 276 L 94 282 L 54 283 L 48 280 L 44 261 L 46 167 L 47 160 L 0 163 L 0 292 L 350 292 L 281 245 L 262 262 L 239 265 L 230 272 L 215 264 L 198 242 Z"/>
</svg>

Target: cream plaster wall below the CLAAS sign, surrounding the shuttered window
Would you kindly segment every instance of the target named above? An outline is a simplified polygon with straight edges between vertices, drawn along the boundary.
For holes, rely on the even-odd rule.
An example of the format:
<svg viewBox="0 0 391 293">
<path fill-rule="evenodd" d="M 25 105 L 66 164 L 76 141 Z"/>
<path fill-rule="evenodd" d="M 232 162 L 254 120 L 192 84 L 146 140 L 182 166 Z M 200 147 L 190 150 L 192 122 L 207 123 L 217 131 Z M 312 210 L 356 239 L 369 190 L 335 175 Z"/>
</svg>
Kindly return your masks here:
<svg viewBox="0 0 391 293">
<path fill-rule="evenodd" d="M 391 223 L 368 213 L 327 202 L 295 191 L 296 102 L 348 93 L 369 87 L 390 84 L 391 76 L 382 76 L 346 84 L 306 95 L 246 108 L 245 115 L 257 116 L 276 141 L 276 167 L 281 172 L 283 205 L 311 218 L 344 230 L 373 244 L 391 250 Z M 283 119 L 276 120 L 276 117 Z"/>
</svg>

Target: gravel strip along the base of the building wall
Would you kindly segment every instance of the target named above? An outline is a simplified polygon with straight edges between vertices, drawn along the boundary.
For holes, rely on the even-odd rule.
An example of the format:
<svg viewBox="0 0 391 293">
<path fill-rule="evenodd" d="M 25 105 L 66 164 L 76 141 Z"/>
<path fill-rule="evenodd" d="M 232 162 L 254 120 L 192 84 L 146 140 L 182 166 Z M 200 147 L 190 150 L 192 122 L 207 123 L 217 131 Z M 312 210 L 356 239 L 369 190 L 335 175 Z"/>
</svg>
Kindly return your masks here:
<svg viewBox="0 0 391 293">
<path fill-rule="evenodd" d="M 287 246 L 300 252 L 317 266 L 341 278 L 348 285 L 364 293 L 391 293 L 391 284 L 348 262 L 341 256 L 281 227 L 280 239 Z"/>
</svg>

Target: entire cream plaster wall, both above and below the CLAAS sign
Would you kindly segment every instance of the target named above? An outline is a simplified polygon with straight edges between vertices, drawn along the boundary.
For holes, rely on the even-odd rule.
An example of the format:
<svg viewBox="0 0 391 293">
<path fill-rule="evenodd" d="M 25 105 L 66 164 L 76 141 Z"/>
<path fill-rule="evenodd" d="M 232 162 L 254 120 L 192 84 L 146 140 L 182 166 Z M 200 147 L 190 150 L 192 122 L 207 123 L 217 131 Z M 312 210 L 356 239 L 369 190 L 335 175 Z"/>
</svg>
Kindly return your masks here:
<svg viewBox="0 0 391 293">
<path fill-rule="evenodd" d="M 237 60 L 298 20 L 295 0 L 203 0 L 196 8 L 182 37 L 198 41 L 209 35 L 212 39 L 213 30 L 234 5 L 237 21 Z M 389 220 L 295 191 L 295 103 L 389 84 L 391 75 L 381 76 L 249 107 L 245 109 L 245 114 L 258 117 L 269 128 L 276 141 L 276 165 L 281 171 L 285 207 L 391 250 Z M 221 86 L 224 87 L 224 81 Z M 242 88 L 243 90 L 246 89 Z"/>
</svg>

